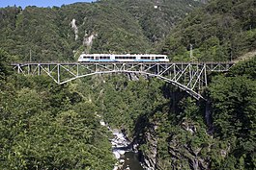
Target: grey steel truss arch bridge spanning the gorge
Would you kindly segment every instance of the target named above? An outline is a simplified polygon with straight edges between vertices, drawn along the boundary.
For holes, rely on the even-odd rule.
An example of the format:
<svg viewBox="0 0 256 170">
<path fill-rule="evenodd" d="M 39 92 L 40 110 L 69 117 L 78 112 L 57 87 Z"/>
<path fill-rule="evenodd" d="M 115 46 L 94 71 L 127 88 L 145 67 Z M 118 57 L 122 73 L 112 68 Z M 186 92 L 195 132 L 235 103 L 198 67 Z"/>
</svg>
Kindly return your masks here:
<svg viewBox="0 0 256 170">
<path fill-rule="evenodd" d="M 12 63 L 17 73 L 46 74 L 59 85 L 96 74 L 126 73 L 156 77 L 204 99 L 209 72 L 226 72 L 234 62 L 25 62 Z"/>
</svg>

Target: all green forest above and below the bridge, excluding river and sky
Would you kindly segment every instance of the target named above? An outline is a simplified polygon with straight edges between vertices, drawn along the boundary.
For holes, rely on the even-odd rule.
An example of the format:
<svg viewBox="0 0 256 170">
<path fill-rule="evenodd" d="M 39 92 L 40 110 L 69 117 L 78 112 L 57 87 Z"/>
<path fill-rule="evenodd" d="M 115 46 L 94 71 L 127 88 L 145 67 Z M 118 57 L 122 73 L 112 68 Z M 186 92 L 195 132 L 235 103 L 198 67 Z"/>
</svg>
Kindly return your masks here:
<svg viewBox="0 0 256 170">
<path fill-rule="evenodd" d="M 229 61 L 256 50 L 255 6 L 101 0 L 0 9 L 0 169 L 113 169 L 112 135 L 100 116 L 137 143 L 154 169 L 256 169 L 255 55 L 208 75 L 208 101 L 154 78 L 100 75 L 56 85 L 9 66 L 30 57 L 74 61 L 82 52 Z"/>
</svg>

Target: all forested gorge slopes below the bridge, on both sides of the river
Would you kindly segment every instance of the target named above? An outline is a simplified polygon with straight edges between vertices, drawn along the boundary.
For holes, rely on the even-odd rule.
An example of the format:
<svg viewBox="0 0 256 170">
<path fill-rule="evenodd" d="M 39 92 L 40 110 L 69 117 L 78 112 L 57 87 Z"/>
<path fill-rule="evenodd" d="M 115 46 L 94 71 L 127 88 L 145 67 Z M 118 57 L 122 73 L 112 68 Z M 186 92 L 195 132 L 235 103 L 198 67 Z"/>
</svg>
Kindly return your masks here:
<svg viewBox="0 0 256 170">
<path fill-rule="evenodd" d="M 68 85 L 12 74 L 1 51 L 0 167 L 109 169 L 99 114 L 126 132 L 154 169 L 255 169 L 255 58 L 210 80 L 207 104 L 156 79 L 95 76 Z"/>
</svg>

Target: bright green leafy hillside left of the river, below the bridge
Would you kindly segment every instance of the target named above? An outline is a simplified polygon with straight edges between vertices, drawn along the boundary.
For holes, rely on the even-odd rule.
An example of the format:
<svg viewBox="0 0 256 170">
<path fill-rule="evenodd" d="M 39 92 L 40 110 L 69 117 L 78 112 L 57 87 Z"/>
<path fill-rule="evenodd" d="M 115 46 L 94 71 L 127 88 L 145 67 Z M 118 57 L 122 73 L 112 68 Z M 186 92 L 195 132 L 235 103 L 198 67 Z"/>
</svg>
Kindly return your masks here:
<svg viewBox="0 0 256 170">
<path fill-rule="evenodd" d="M 86 86 L 14 75 L 9 59 L 0 50 L 0 169 L 112 169 L 111 134 Z"/>
</svg>

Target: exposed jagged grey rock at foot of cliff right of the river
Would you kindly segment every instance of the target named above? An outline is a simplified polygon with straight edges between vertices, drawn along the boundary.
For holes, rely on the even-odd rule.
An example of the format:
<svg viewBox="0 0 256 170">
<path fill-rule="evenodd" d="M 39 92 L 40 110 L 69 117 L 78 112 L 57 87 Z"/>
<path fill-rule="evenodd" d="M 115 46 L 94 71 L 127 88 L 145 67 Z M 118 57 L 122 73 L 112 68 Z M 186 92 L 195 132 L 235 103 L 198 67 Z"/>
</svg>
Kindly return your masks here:
<svg viewBox="0 0 256 170">
<path fill-rule="evenodd" d="M 204 143 L 204 145 L 196 146 L 193 143 L 194 138 L 198 137 L 198 128 L 199 131 L 202 131 L 202 128 L 190 121 L 184 121 L 180 127 L 180 133 L 170 133 L 167 141 L 160 140 L 160 137 L 157 136 L 156 126 L 155 128 L 149 129 L 145 133 L 145 143 L 142 147 L 145 166 L 148 169 L 191 169 L 191 170 L 203 170 L 209 169 L 210 160 L 205 156 L 205 152 L 211 152 L 211 144 Z M 185 141 L 185 138 L 191 138 Z M 209 138 L 208 134 L 206 134 Z M 161 156 L 160 146 L 166 142 L 168 157 Z"/>
</svg>

